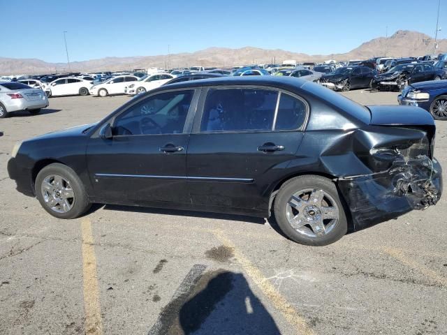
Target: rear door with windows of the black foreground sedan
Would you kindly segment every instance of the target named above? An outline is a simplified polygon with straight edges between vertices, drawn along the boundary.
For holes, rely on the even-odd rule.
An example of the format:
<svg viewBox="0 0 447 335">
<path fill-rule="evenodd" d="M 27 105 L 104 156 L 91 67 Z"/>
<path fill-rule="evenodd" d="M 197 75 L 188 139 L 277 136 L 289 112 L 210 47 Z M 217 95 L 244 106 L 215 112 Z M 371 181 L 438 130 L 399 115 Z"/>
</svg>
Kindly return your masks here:
<svg viewBox="0 0 447 335">
<path fill-rule="evenodd" d="M 267 189 L 295 156 L 307 103 L 277 89 L 204 89 L 186 161 L 191 203 L 221 211 L 268 209 Z"/>
</svg>

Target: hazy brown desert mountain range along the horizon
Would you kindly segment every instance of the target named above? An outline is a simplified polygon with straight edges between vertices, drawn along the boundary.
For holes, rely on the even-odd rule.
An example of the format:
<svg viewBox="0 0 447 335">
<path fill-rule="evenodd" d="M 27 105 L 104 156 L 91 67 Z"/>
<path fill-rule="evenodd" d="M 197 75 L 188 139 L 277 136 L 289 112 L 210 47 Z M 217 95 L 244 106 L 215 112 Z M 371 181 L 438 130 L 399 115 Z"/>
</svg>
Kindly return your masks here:
<svg viewBox="0 0 447 335">
<path fill-rule="evenodd" d="M 437 40 L 437 53 L 447 52 L 447 39 Z M 368 59 L 374 56 L 418 57 L 432 54 L 434 38 L 417 31 L 400 30 L 392 36 L 379 37 L 362 43 L 359 47 L 344 54 L 303 54 L 286 50 L 265 50 L 259 47 L 210 47 L 191 53 L 163 54 L 144 57 L 105 57 L 89 61 L 70 63 L 71 71 L 93 72 L 105 70 L 132 70 L 134 68 L 173 68 L 184 66 L 229 67 L 243 64 L 263 64 L 285 59 L 296 61 L 325 61 L 335 59 Z M 13 59 L 0 57 L 0 75 L 56 73 L 68 71 L 66 63 L 47 63 L 40 59 Z"/>
</svg>

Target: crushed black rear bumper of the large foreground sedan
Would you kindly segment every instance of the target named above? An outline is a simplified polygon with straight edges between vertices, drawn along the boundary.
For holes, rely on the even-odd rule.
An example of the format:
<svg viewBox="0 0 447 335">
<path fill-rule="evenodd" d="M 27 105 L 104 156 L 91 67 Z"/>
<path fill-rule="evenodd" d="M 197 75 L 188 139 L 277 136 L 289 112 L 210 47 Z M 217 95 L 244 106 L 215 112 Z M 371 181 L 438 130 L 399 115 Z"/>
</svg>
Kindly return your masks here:
<svg viewBox="0 0 447 335">
<path fill-rule="evenodd" d="M 385 172 L 340 178 L 338 185 L 354 229 L 360 230 L 436 204 L 442 193 L 441 174 L 436 159 L 402 156 Z"/>
</svg>

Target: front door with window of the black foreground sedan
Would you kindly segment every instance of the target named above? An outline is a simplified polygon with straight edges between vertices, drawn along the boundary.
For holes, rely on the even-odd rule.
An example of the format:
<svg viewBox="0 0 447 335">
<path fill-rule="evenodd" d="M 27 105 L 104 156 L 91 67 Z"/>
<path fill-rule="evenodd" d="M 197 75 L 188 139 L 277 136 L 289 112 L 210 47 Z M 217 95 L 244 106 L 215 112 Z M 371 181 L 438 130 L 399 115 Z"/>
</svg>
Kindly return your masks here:
<svg viewBox="0 0 447 335">
<path fill-rule="evenodd" d="M 112 138 L 91 137 L 87 166 L 98 202 L 165 207 L 189 201 L 185 125 L 193 95 L 189 89 L 146 97 L 111 121 Z"/>
</svg>

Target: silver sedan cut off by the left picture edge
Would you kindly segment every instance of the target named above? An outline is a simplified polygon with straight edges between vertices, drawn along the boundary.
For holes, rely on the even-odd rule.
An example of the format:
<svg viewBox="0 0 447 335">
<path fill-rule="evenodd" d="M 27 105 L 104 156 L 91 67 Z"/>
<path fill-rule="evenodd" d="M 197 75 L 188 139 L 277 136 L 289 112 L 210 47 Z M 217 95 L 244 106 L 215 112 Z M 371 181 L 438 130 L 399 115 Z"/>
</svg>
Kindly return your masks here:
<svg viewBox="0 0 447 335">
<path fill-rule="evenodd" d="M 0 118 L 19 110 L 38 114 L 48 105 L 47 95 L 41 89 L 33 89 L 21 82 L 0 82 Z"/>
</svg>

